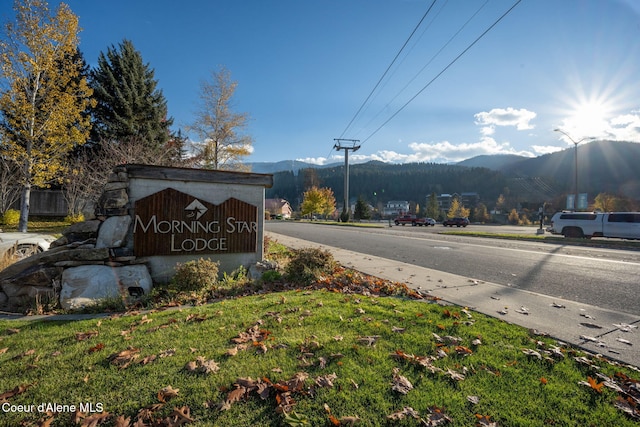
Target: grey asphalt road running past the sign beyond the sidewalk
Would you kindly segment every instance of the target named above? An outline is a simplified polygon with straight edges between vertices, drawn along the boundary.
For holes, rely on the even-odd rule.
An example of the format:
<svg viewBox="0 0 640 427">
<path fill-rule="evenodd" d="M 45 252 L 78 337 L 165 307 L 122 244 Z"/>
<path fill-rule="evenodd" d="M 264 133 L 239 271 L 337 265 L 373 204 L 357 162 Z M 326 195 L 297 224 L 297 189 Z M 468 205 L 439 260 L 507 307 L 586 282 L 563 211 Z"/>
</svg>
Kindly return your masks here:
<svg viewBox="0 0 640 427">
<path fill-rule="evenodd" d="M 441 235 L 437 234 L 444 231 L 441 225 L 356 228 L 272 221 L 266 229 L 609 310 L 640 313 L 640 251 Z M 535 228 L 520 231 L 535 234 Z"/>
</svg>

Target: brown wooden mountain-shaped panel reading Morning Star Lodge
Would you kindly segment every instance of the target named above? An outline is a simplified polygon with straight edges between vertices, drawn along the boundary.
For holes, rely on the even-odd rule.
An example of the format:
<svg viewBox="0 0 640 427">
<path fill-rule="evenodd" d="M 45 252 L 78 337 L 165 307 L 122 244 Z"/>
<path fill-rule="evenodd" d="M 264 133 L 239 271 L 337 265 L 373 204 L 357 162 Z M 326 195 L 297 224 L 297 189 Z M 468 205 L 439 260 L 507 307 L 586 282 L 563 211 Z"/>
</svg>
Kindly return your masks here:
<svg viewBox="0 0 640 427">
<path fill-rule="evenodd" d="M 136 256 L 255 252 L 258 208 L 235 198 L 219 205 L 167 188 L 136 201 Z"/>
</svg>

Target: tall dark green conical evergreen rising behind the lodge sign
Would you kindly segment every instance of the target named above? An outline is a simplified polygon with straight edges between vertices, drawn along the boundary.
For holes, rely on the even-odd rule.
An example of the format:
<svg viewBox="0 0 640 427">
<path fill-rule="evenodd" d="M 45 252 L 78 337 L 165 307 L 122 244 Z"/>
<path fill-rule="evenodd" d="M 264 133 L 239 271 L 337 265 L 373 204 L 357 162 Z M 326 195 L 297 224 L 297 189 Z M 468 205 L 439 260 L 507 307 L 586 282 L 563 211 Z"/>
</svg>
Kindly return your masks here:
<svg viewBox="0 0 640 427">
<path fill-rule="evenodd" d="M 157 88 L 154 71 L 142 60 L 133 43 L 124 40 L 100 53 L 91 73 L 97 105 L 93 110 L 92 140 L 138 140 L 161 150 L 169 140 L 172 118 L 167 101 Z"/>
</svg>

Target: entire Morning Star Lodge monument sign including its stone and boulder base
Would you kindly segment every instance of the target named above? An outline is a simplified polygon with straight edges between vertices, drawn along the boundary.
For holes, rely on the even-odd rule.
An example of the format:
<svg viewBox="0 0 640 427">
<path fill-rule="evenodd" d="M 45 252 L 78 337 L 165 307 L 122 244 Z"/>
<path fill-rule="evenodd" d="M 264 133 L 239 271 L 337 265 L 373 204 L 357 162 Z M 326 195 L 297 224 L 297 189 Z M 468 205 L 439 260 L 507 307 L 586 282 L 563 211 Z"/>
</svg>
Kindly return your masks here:
<svg viewBox="0 0 640 427">
<path fill-rule="evenodd" d="M 119 166 L 96 219 L 0 271 L 0 310 L 24 310 L 43 298 L 72 309 L 140 296 L 170 280 L 178 263 L 200 258 L 219 262 L 220 272 L 251 268 L 263 257 L 264 189 L 272 183 L 264 174 Z"/>
</svg>

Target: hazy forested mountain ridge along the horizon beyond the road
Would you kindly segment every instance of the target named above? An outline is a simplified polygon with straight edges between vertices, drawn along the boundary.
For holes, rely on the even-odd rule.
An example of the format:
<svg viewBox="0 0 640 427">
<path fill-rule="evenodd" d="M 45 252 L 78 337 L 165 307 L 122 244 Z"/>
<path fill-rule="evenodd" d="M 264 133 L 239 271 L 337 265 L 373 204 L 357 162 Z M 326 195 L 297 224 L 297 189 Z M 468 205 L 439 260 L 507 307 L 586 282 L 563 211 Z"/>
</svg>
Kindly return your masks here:
<svg viewBox="0 0 640 427">
<path fill-rule="evenodd" d="M 389 200 L 407 200 L 420 205 L 435 192 L 477 192 L 489 208 L 504 194 L 515 207 L 539 206 L 554 200 L 562 208 L 563 198 L 574 190 L 575 148 L 536 158 L 479 156 L 461 164 L 388 164 L 369 162 L 350 166 L 351 199 L 363 196 L 377 206 Z M 282 197 L 294 207 L 311 185 L 330 187 L 339 205 L 343 200 L 342 166 L 304 168 L 276 172 L 267 197 Z M 594 141 L 578 148 L 578 185 L 589 200 L 598 193 L 640 199 L 640 144 Z"/>
</svg>

